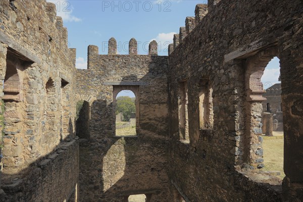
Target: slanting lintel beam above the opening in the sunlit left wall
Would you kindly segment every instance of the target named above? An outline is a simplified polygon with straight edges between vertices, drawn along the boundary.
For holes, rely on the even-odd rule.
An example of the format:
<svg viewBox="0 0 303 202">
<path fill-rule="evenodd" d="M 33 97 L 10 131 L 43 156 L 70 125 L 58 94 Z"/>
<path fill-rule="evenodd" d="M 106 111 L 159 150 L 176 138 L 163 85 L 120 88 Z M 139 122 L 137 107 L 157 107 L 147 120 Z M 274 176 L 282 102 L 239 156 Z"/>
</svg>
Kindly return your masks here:
<svg viewBox="0 0 303 202">
<path fill-rule="evenodd" d="M 21 47 L 20 43 L 18 43 L 14 39 L 10 38 L 7 34 L 5 34 L 1 30 L 0 30 L 0 41 L 3 42 L 3 43 L 8 44 L 11 51 L 18 58 L 20 58 L 24 61 L 34 62 L 34 63 L 40 64 L 41 61 L 35 54 L 33 54 L 29 50 L 25 49 L 24 47 Z"/>
</svg>

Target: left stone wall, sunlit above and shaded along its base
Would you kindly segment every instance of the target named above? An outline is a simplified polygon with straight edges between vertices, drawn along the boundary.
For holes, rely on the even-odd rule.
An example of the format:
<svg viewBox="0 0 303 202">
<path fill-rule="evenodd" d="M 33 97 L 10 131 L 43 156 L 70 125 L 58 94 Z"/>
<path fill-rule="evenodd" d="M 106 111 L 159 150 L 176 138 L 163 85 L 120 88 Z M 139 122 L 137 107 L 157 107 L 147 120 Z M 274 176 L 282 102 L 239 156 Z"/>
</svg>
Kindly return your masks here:
<svg viewBox="0 0 303 202">
<path fill-rule="evenodd" d="M 53 194 L 68 199 L 77 181 L 77 142 L 42 170 L 36 165 L 75 136 L 71 92 L 76 50 L 68 48 L 67 29 L 55 4 L 1 1 L 0 18 L 0 97 L 5 102 L 1 182 L 7 193 L 1 192 L 1 198 L 58 201 L 46 197 Z M 73 176 L 62 177 L 63 170 Z"/>
</svg>

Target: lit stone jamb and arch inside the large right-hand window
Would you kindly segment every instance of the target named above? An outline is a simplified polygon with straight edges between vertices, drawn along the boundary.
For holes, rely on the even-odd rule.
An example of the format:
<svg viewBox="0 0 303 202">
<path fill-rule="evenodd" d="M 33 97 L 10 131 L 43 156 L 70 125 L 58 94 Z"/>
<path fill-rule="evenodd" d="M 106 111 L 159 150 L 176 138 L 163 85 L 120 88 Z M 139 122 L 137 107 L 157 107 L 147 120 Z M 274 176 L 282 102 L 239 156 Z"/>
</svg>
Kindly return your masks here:
<svg viewBox="0 0 303 202">
<path fill-rule="evenodd" d="M 262 137 L 262 102 L 266 111 L 271 112 L 270 103 L 266 102 L 263 93 L 266 92 L 261 77 L 269 62 L 278 56 L 276 47 L 262 51 L 255 56 L 247 58 L 245 64 L 245 89 L 246 89 L 246 135 L 249 142 L 245 142 L 244 159 L 254 168 L 271 169 L 273 165 L 264 162 L 264 138 Z M 272 126 L 270 126 L 272 127 Z M 282 144 L 283 145 L 283 144 Z M 283 154 L 283 153 L 282 153 Z M 244 160 L 245 161 L 245 160 Z M 283 164 L 283 162 L 281 162 Z M 283 170 L 282 170 L 283 172 Z"/>
</svg>

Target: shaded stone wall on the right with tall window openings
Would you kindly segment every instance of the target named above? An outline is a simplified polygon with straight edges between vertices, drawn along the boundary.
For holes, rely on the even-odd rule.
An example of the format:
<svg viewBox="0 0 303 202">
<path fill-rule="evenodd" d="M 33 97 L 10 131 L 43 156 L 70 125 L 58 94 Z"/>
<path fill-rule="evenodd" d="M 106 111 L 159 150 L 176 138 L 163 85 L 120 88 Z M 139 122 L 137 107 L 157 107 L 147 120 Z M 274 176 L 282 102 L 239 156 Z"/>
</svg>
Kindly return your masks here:
<svg viewBox="0 0 303 202">
<path fill-rule="evenodd" d="M 186 201 L 281 201 L 302 196 L 302 4 L 292 1 L 218 1 L 191 32 L 170 45 L 169 177 Z M 196 11 L 203 6 L 198 5 Z M 195 19 L 200 19 L 196 12 Z M 192 23 L 191 23 L 192 24 Z M 186 22 L 188 26 L 188 21 Z M 184 36 L 182 37 L 178 36 Z M 281 63 L 284 179 L 266 175 L 263 164 L 261 76 L 268 62 Z M 180 83 L 187 81 L 187 144 L 180 141 Z M 201 84 L 207 83 L 207 84 Z M 207 82 L 205 82 L 207 81 Z M 212 91 L 213 126 L 199 126 L 201 85 Z M 211 92 L 209 90 L 209 92 Z M 294 110 L 294 111 L 292 111 Z M 293 123 L 291 123 L 291 121 Z M 292 148 L 297 149 L 294 151 Z M 291 165 L 295 168 L 291 168 Z M 244 173 L 245 175 L 243 175 Z M 251 181 L 251 180 L 254 180 Z M 266 182 L 276 190 L 265 188 Z M 290 189 L 295 191 L 290 192 Z M 171 191 L 172 193 L 173 191 Z M 290 194 L 291 193 L 291 194 Z M 184 197 L 185 198 L 185 197 Z M 171 196 L 170 201 L 173 200 Z"/>
</svg>

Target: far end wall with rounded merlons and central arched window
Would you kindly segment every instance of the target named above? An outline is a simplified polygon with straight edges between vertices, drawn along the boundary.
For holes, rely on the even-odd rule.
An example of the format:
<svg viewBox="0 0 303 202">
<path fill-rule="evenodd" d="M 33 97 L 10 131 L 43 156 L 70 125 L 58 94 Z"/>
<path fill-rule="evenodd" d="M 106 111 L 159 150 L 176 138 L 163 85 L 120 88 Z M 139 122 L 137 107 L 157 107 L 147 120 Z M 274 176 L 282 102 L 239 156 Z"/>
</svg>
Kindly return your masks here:
<svg viewBox="0 0 303 202">
<path fill-rule="evenodd" d="M 109 55 L 90 45 L 88 69 L 77 72 L 77 99 L 90 104 L 90 140 L 80 143 L 80 201 L 127 201 L 133 194 L 167 201 L 167 57 L 157 56 L 155 41 L 148 56 L 136 55 L 137 47 L 116 55 L 115 44 L 111 38 Z M 137 136 L 115 136 L 120 90 L 136 96 Z"/>
</svg>

